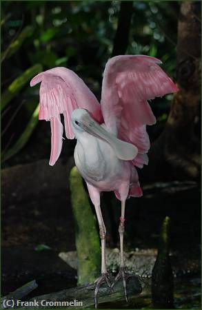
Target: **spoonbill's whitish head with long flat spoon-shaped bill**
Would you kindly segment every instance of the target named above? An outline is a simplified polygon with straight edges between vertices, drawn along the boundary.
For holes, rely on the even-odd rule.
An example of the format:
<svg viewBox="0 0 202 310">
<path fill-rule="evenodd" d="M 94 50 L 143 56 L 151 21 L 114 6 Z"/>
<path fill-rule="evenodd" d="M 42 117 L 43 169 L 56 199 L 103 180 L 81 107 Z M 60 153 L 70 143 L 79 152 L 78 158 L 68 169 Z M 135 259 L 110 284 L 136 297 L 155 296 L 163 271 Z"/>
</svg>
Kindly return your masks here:
<svg viewBox="0 0 202 310">
<path fill-rule="evenodd" d="M 71 115 L 72 129 L 76 138 L 82 139 L 82 132 L 88 132 L 92 136 L 105 141 L 114 149 L 116 156 L 123 161 L 131 161 L 137 156 L 138 149 L 134 145 L 119 140 L 102 125 L 99 125 L 90 113 L 85 109 L 76 109 Z"/>
</svg>

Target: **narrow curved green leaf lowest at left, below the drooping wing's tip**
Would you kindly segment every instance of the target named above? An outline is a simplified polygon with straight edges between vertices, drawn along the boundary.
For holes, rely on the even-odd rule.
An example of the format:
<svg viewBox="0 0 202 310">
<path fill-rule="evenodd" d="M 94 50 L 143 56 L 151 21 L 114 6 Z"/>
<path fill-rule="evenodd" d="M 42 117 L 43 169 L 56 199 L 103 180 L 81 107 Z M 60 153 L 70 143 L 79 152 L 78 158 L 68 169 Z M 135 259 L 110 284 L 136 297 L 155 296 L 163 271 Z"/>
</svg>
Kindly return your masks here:
<svg viewBox="0 0 202 310">
<path fill-rule="evenodd" d="M 37 126 L 37 123 L 39 122 L 39 105 L 37 105 L 36 109 L 34 110 L 34 113 L 32 114 L 30 121 L 26 125 L 26 129 L 23 131 L 17 142 L 8 149 L 6 154 L 2 154 L 2 161 L 7 161 L 10 157 L 17 154 L 24 145 L 28 142 L 32 132 L 34 131 L 34 128 Z"/>
</svg>

